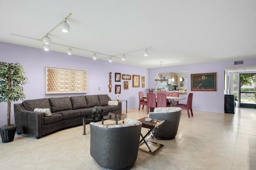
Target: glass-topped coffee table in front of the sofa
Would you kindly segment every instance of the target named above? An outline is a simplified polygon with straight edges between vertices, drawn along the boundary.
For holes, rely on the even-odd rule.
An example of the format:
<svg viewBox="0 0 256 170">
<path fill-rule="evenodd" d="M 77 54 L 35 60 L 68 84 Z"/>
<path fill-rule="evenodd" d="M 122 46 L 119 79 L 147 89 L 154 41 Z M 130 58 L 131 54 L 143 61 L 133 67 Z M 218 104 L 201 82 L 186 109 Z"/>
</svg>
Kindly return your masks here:
<svg viewBox="0 0 256 170">
<path fill-rule="evenodd" d="M 116 122 L 116 125 L 118 124 L 118 121 L 120 120 L 123 120 L 123 123 L 124 123 L 124 119 L 127 118 L 127 114 L 116 114 L 116 113 L 111 113 L 109 112 L 108 115 L 106 116 L 103 116 L 103 119 L 101 119 L 101 124 L 103 125 L 104 124 L 104 120 L 113 120 Z M 83 135 L 86 135 L 85 133 L 85 121 L 86 120 L 100 120 L 100 119 L 86 119 L 86 118 L 83 118 Z"/>
</svg>

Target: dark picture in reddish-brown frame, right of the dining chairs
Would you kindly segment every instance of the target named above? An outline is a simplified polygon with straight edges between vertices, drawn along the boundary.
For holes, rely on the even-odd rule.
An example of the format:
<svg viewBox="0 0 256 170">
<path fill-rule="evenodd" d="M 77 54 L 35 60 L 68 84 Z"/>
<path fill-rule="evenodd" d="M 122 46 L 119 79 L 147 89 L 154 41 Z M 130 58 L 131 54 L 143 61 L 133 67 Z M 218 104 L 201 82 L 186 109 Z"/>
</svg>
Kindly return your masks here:
<svg viewBox="0 0 256 170">
<path fill-rule="evenodd" d="M 216 72 L 191 74 L 191 90 L 216 91 Z"/>
</svg>

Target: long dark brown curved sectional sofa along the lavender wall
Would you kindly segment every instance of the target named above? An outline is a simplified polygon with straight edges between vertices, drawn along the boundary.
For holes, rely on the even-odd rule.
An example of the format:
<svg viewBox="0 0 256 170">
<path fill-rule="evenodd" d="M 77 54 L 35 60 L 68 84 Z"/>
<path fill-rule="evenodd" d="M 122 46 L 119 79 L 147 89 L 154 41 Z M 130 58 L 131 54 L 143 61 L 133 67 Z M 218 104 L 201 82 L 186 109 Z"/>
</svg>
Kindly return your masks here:
<svg viewBox="0 0 256 170">
<path fill-rule="evenodd" d="M 107 94 L 24 100 L 22 104 L 14 104 L 16 132 L 39 139 L 60 129 L 82 125 L 83 118 L 92 119 L 94 106 L 101 106 L 104 116 L 108 115 L 108 112 L 121 115 L 122 103 L 111 106 L 108 105 L 110 100 Z M 44 116 L 44 113 L 34 111 L 35 108 L 49 108 L 52 115 Z M 86 120 L 86 123 L 91 121 L 95 120 Z"/>
</svg>

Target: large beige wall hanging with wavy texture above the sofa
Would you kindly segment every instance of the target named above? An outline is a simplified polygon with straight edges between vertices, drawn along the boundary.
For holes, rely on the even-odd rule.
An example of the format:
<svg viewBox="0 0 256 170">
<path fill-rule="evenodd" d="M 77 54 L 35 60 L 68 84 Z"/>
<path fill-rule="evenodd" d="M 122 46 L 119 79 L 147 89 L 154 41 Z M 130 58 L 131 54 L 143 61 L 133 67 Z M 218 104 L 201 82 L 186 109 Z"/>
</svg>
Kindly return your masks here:
<svg viewBox="0 0 256 170">
<path fill-rule="evenodd" d="M 87 93 L 87 70 L 46 66 L 46 94 Z"/>
</svg>

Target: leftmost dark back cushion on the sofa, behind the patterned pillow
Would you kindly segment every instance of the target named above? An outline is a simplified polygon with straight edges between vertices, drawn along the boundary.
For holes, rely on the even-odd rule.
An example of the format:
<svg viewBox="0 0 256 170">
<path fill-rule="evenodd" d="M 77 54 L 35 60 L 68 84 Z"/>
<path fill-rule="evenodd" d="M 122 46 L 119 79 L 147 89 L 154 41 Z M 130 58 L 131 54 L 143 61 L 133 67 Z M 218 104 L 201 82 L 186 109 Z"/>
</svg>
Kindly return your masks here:
<svg viewBox="0 0 256 170">
<path fill-rule="evenodd" d="M 24 100 L 22 102 L 24 108 L 28 111 L 34 111 L 35 108 L 48 108 L 51 109 L 48 98 Z"/>
</svg>

